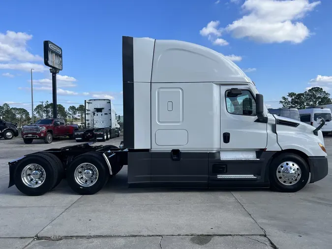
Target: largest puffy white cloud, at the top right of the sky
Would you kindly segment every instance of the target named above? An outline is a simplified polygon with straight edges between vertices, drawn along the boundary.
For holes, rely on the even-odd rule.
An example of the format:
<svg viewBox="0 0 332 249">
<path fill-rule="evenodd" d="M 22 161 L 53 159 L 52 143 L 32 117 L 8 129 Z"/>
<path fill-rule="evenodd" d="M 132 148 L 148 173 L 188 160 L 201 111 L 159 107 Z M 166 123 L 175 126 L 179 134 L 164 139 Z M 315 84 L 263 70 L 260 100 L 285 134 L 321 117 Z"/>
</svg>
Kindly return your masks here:
<svg viewBox="0 0 332 249">
<path fill-rule="evenodd" d="M 241 8 L 247 15 L 229 24 L 225 30 L 236 38 L 248 37 L 264 43 L 301 43 L 310 36 L 300 21 L 320 1 L 308 0 L 246 0 Z"/>
</svg>

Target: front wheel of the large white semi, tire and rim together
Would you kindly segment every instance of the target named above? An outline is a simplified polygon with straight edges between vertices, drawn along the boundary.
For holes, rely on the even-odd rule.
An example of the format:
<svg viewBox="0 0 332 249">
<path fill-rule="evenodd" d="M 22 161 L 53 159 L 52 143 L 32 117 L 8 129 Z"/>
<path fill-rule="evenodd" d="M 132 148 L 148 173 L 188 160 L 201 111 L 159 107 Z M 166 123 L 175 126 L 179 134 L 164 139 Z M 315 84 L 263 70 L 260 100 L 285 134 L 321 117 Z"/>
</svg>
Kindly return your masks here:
<svg viewBox="0 0 332 249">
<path fill-rule="evenodd" d="M 282 169 L 291 173 L 287 174 Z M 279 192 L 297 192 L 309 179 L 309 166 L 305 160 L 293 153 L 284 153 L 273 159 L 270 166 L 270 183 Z"/>
</svg>

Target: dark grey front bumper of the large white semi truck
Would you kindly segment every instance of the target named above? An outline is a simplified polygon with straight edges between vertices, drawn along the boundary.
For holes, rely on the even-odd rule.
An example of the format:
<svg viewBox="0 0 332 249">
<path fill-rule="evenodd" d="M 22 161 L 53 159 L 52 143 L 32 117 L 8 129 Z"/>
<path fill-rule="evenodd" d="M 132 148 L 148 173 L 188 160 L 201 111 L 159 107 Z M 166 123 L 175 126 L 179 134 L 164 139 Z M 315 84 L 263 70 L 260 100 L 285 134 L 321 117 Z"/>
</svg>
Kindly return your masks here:
<svg viewBox="0 0 332 249">
<path fill-rule="evenodd" d="M 310 156 L 309 166 L 311 173 L 310 183 L 322 180 L 328 175 L 329 164 L 326 156 Z"/>
</svg>

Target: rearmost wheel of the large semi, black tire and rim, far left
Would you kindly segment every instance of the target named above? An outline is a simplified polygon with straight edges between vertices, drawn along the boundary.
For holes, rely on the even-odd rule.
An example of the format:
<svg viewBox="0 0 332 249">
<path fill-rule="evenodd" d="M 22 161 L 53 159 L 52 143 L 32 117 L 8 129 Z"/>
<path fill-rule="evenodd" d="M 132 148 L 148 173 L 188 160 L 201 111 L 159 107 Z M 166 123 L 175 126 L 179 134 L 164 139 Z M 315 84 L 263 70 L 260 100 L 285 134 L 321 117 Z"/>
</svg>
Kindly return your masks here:
<svg viewBox="0 0 332 249">
<path fill-rule="evenodd" d="M 56 184 L 57 176 L 59 175 L 58 167 L 53 167 L 53 160 L 49 156 L 43 154 L 34 154 L 24 157 L 18 164 L 14 173 L 14 183 L 15 186 L 24 194 L 30 196 L 42 195 L 50 191 Z M 31 164 L 31 166 L 30 166 Z M 37 164 L 36 169 L 35 165 Z M 31 170 L 29 170 L 29 168 Z M 28 170 L 26 170 L 28 169 Z M 29 181 L 29 174 L 32 172 L 41 173 L 41 178 L 36 179 L 40 180 L 40 185 L 38 187 L 31 187 L 31 182 Z M 22 174 L 25 174 L 26 177 L 22 177 Z M 38 174 L 39 175 L 39 174 Z M 35 176 L 38 176 L 37 173 Z M 31 176 L 31 174 L 30 174 Z M 42 178 L 44 176 L 44 178 Z M 32 178 L 31 178 L 32 179 Z"/>
</svg>

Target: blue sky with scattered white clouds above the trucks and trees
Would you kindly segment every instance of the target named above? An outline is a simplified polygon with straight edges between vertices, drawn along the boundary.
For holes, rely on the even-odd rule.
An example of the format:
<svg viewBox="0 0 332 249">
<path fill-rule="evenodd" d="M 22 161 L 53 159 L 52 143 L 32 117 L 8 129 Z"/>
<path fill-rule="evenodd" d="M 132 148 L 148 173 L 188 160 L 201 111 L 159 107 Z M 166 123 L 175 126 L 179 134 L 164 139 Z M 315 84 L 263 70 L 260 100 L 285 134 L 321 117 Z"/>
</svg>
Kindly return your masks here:
<svg viewBox="0 0 332 249">
<path fill-rule="evenodd" d="M 310 86 L 332 93 L 331 9 L 331 0 L 3 1 L 0 104 L 31 110 L 31 67 L 34 106 L 52 101 L 42 61 L 43 40 L 51 40 L 63 51 L 58 102 L 111 96 L 121 114 L 122 35 L 184 40 L 230 56 L 269 107 Z"/>
</svg>

